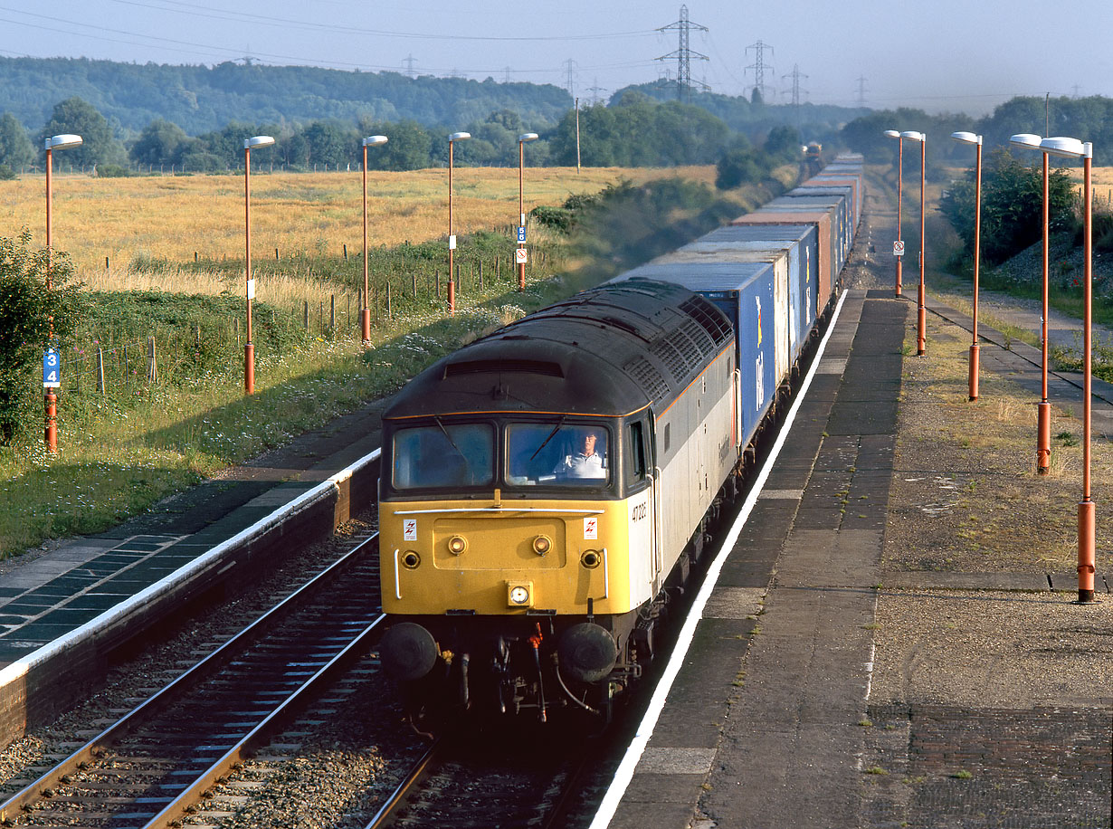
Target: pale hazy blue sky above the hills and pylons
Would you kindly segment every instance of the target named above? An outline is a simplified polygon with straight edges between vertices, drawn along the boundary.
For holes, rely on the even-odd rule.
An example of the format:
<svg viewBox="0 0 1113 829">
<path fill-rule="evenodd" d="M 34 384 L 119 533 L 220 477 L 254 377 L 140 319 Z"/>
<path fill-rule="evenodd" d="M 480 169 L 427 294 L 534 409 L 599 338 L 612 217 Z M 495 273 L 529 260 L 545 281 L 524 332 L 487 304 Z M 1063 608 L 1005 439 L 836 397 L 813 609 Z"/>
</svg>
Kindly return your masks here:
<svg viewBox="0 0 1113 829">
<path fill-rule="evenodd" d="M 674 0 L 0 0 L 0 55 L 157 63 L 260 63 L 528 80 L 605 97 L 653 80 L 679 47 Z M 1017 95 L 1113 96 L 1113 2 L 718 0 L 688 3 L 693 79 L 801 100 L 981 115 Z M 573 63 L 569 63 L 573 61 Z M 805 77 L 806 76 L 806 77 Z M 802 90 L 806 90 L 802 91 Z"/>
</svg>

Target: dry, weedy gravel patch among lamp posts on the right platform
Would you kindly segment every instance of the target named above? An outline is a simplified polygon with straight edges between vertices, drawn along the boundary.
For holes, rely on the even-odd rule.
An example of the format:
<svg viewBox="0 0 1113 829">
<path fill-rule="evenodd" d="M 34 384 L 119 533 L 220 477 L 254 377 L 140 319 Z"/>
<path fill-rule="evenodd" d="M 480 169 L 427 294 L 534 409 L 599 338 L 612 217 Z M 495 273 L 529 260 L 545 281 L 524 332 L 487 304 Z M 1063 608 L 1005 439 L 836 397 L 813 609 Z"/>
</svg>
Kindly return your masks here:
<svg viewBox="0 0 1113 829">
<path fill-rule="evenodd" d="M 905 352 L 914 354 L 915 315 L 909 320 Z M 905 361 L 887 565 L 1072 572 L 1081 424 L 1053 406 L 1051 474 L 1036 475 L 1036 399 L 983 367 L 978 401 L 968 402 L 968 333 L 928 315 L 927 335 L 927 358 Z M 1105 491 L 1113 482 L 1105 442 L 1093 444 L 1092 470 L 1094 491 Z M 1107 525 L 1097 535 L 1099 550 L 1113 543 Z"/>
</svg>

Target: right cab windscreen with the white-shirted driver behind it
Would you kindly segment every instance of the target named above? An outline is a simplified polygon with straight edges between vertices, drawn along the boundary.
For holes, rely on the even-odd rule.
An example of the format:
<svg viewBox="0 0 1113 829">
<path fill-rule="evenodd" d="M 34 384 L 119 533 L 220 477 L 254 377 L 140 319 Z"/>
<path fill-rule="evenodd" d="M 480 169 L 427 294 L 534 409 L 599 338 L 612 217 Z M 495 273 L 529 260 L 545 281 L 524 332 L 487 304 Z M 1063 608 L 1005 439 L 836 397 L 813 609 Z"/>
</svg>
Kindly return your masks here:
<svg viewBox="0 0 1113 829">
<path fill-rule="evenodd" d="M 604 486 L 610 480 L 610 437 L 582 423 L 511 423 L 506 426 L 506 483 L 511 486 Z"/>
</svg>

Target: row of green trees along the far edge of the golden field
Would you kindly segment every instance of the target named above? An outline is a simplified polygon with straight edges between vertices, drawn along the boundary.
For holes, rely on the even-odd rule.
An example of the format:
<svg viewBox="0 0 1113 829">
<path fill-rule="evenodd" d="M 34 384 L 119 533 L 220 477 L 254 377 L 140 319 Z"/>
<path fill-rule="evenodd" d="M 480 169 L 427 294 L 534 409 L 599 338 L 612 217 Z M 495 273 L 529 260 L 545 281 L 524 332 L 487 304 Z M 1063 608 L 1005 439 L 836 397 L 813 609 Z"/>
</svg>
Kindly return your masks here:
<svg viewBox="0 0 1113 829">
<path fill-rule="evenodd" d="M 628 90 L 610 106 L 569 110 L 548 128 L 526 122 L 513 110 L 499 109 L 466 124 L 465 129 L 472 138 L 456 144 L 454 159 L 467 166 L 516 166 L 518 138 L 528 130 L 541 135 L 526 150 L 531 167 L 716 164 L 726 154 L 760 146 L 769 137 L 778 157 L 786 147 L 790 155 L 799 150 L 799 137 L 792 128 L 775 127 L 751 139 L 700 106 L 662 102 L 636 90 Z M 179 125 L 159 118 L 124 141 L 96 107 L 71 97 L 55 106 L 33 142 L 13 114 L 0 115 L 0 170 L 11 176 L 38 168 L 43 161 L 43 139 L 67 132 L 80 135 L 83 144 L 66 150 L 58 162 L 85 169 L 96 166 L 99 175 L 236 169 L 243 165 L 244 139 L 255 135 L 276 139 L 273 149 L 257 157 L 259 162 L 293 170 L 358 169 L 361 139 L 385 135 L 390 141 L 368 152 L 368 168 L 412 170 L 447 164 L 447 131 L 413 119 L 384 121 L 362 116 L 351 122 L 315 120 L 304 126 L 232 121 L 219 130 L 189 136 Z"/>
</svg>

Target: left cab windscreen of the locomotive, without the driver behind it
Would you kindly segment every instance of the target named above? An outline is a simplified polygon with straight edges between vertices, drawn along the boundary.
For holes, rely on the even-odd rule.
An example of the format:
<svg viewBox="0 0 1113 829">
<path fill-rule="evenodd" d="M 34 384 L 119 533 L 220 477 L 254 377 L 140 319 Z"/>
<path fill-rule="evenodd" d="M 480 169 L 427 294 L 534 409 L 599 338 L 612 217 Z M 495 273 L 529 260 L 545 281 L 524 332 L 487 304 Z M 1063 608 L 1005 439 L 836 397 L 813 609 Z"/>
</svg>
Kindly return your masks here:
<svg viewBox="0 0 1113 829">
<path fill-rule="evenodd" d="M 393 484 L 398 490 L 483 486 L 494 481 L 494 430 L 440 423 L 394 435 Z"/>
</svg>

